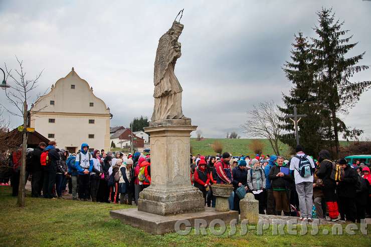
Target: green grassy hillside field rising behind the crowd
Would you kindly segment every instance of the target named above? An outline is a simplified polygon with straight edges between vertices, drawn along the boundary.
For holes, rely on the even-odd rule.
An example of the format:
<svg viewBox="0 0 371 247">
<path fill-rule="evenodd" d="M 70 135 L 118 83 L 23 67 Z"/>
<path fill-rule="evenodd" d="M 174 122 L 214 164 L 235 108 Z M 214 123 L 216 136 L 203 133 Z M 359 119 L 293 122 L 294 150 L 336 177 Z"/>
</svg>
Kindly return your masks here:
<svg viewBox="0 0 371 247">
<path fill-rule="evenodd" d="M 223 152 L 230 152 L 234 156 L 239 156 L 240 154 L 248 154 L 252 157 L 255 155 L 254 152 L 249 148 L 249 144 L 254 139 L 214 139 L 214 138 L 206 138 L 203 141 L 198 141 L 196 138 L 191 138 L 191 146 L 192 146 L 192 154 L 197 155 L 216 155 L 216 152 L 212 148 L 212 144 L 215 141 L 219 141 L 223 144 Z M 265 147 L 263 149 L 263 154 L 274 154 L 273 149 L 268 141 L 268 139 L 259 139 L 264 144 Z M 285 157 L 289 157 L 289 146 L 280 142 L 279 144 L 281 153 Z M 340 141 L 340 146 L 349 145 L 347 141 Z"/>
</svg>

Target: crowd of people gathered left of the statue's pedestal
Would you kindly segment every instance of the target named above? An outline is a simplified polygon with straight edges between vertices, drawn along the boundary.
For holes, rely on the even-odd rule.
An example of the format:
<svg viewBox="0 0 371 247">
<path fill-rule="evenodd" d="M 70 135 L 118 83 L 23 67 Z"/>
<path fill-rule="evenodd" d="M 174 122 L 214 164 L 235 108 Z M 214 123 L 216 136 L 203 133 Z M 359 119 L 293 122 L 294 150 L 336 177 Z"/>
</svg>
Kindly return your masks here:
<svg viewBox="0 0 371 247">
<path fill-rule="evenodd" d="M 125 155 L 95 149 L 89 152 L 83 143 L 78 153 L 56 148 L 56 142 L 40 143 L 26 154 L 26 181 L 31 176 L 31 196 L 132 204 L 150 184 L 150 156 L 139 152 Z M 0 185 L 12 185 L 12 195 L 19 190 L 22 145 L 9 155 L 1 155 Z M 68 188 L 68 191 L 67 191 Z"/>
</svg>

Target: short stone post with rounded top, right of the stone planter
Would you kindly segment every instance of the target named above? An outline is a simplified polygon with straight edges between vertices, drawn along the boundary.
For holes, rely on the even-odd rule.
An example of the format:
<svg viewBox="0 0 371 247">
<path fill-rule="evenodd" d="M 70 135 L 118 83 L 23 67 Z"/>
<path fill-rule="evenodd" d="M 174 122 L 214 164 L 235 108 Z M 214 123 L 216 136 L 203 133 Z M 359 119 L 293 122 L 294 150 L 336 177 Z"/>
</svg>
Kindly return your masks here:
<svg viewBox="0 0 371 247">
<path fill-rule="evenodd" d="M 218 200 L 217 200 L 218 202 Z M 253 193 L 246 193 L 240 200 L 241 220 L 248 219 L 249 224 L 257 224 L 259 221 L 259 201 L 255 200 Z"/>
</svg>

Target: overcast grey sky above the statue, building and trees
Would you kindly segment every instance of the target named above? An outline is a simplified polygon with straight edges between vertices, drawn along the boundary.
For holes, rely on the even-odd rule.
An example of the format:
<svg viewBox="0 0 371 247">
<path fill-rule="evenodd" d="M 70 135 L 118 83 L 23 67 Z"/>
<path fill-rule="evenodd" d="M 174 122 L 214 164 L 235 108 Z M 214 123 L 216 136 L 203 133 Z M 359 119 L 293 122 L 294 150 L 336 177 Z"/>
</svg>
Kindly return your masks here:
<svg viewBox="0 0 371 247">
<path fill-rule="evenodd" d="M 75 68 L 114 115 L 111 126 L 128 126 L 153 110 L 153 63 L 158 39 L 184 8 L 182 56 L 175 75 L 183 88 L 183 113 L 205 137 L 237 131 L 254 104 L 291 87 L 281 69 L 293 35 L 315 37 L 316 11 L 333 7 L 353 41 L 349 56 L 366 52 L 371 65 L 371 2 L 362 0 L 256 1 L 6 1 L 0 0 L 0 67 L 28 76 L 44 69 L 40 91 Z M 370 80 L 371 70 L 354 80 Z M 11 80 L 8 83 L 12 83 Z M 1 95 L 3 94 L 3 96 Z M 35 98 L 34 98 L 35 100 Z M 9 105 L 0 91 L 0 103 Z M 347 116 L 351 127 L 371 136 L 371 91 Z M 12 125 L 22 119 L 11 117 Z M 72 130 L 72 129 L 71 129 Z"/>
</svg>

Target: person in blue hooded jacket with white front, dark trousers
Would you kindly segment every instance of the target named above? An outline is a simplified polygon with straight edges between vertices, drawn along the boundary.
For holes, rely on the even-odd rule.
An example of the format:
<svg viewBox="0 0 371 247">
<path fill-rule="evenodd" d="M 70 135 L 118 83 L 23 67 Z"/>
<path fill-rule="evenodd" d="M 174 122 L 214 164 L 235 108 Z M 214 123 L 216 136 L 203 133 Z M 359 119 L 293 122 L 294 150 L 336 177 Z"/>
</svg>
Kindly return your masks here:
<svg viewBox="0 0 371 247">
<path fill-rule="evenodd" d="M 90 172 L 93 170 L 93 156 L 87 143 L 81 144 L 81 152 L 76 155 L 75 168 L 79 177 L 79 198 L 88 201 L 90 199 Z"/>
</svg>

